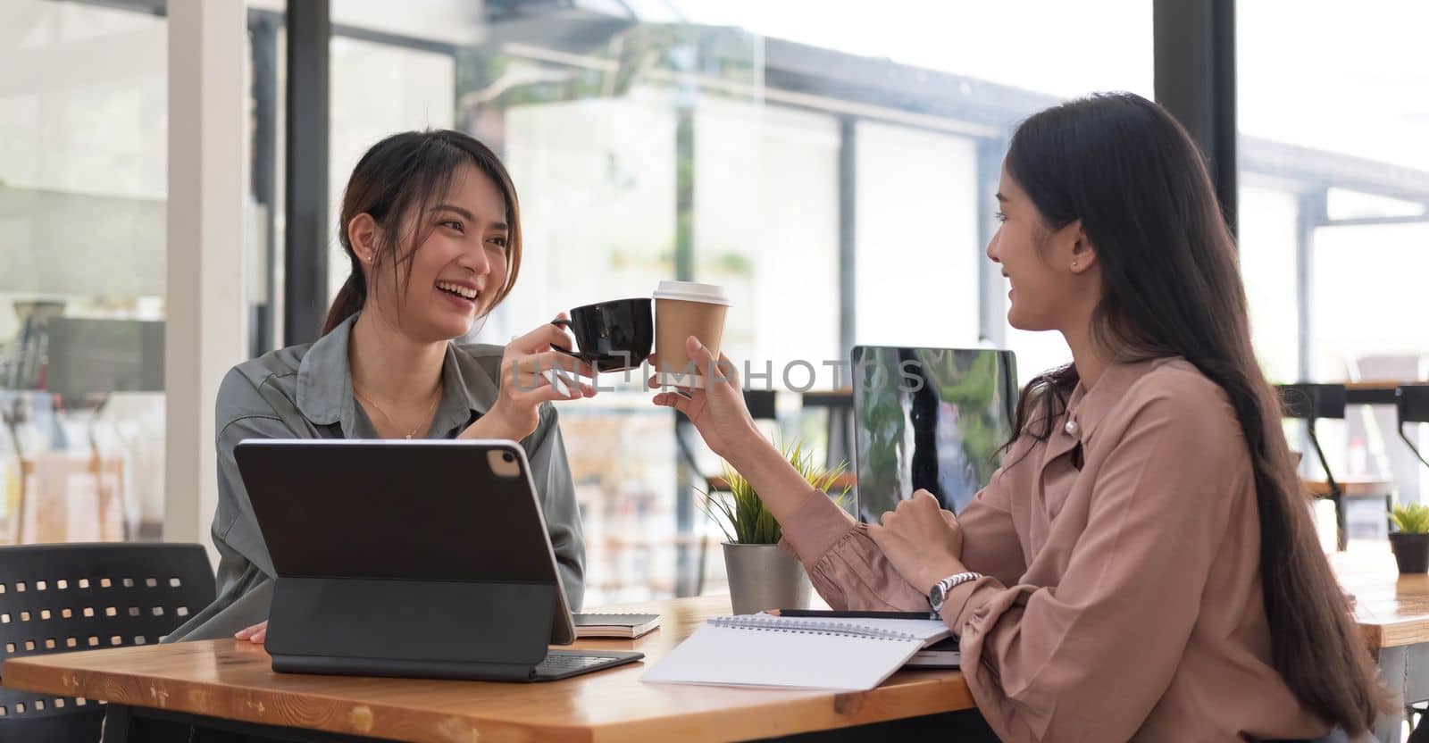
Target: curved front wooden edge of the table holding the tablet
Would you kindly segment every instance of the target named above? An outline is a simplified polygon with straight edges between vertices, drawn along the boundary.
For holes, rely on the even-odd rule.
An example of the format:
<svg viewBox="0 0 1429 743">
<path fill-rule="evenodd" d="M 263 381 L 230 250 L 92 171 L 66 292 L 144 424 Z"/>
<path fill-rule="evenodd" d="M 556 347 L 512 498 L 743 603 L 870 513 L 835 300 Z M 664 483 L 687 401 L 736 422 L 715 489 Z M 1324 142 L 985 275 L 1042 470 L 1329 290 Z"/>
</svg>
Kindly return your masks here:
<svg viewBox="0 0 1429 743">
<path fill-rule="evenodd" d="M 262 686 L 216 684 L 206 682 L 181 682 L 174 679 L 151 679 L 124 672 L 73 669 L 46 663 L 46 660 L 73 660 L 87 653 L 110 650 L 89 650 L 80 653 L 57 653 L 10 659 L 4 662 L 4 686 L 31 693 L 86 697 L 131 707 L 160 709 L 186 714 L 240 720 L 246 723 L 280 727 L 302 727 L 327 733 L 354 736 L 379 736 L 396 740 L 452 742 L 469 740 L 473 736 L 497 740 L 552 740 L 570 743 L 603 742 L 725 742 L 750 740 L 796 733 L 832 730 L 857 724 L 879 723 L 945 712 L 973 710 L 976 704 L 966 679 L 960 672 L 915 669 L 902 670 L 883 684 L 867 692 L 813 692 L 810 696 L 792 699 L 776 704 L 732 706 L 725 709 L 683 713 L 672 717 L 646 716 L 630 720 L 579 723 L 532 724 L 492 717 L 464 717 L 440 710 L 412 709 L 400 704 L 354 700 L 322 692 L 292 692 Z M 59 683 L 54 676 L 60 676 Z M 907 689 L 910 674 L 940 674 Z M 553 682 L 560 683 L 560 682 Z M 183 689 L 169 689 L 170 684 Z M 149 697 L 136 693 L 147 686 Z M 529 684 L 537 692 L 544 683 Z M 787 692 L 787 690 L 780 690 Z M 229 703 L 219 710 L 204 707 L 206 694 L 221 693 Z M 916 696 L 913 696 L 916 694 Z M 294 724 L 293 719 L 276 713 L 287 709 L 310 706 L 312 699 L 324 699 L 333 707 L 346 713 L 346 719 L 329 714 L 319 726 Z M 154 700 L 159 700 L 156 704 Z M 397 729 L 377 724 L 382 716 L 406 719 Z M 324 724 L 326 723 L 326 724 Z M 677 730 L 677 734 L 672 734 Z"/>
</svg>

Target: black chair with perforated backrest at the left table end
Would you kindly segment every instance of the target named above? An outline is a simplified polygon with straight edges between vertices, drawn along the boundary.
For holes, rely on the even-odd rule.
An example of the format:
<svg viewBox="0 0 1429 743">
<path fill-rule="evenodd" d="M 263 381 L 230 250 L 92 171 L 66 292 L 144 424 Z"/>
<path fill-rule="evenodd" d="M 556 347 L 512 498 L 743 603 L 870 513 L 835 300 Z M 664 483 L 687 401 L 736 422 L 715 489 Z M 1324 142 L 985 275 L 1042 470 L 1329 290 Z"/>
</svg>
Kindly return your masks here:
<svg viewBox="0 0 1429 743">
<path fill-rule="evenodd" d="M 213 597 L 200 544 L 0 547 L 0 659 L 153 644 Z M 93 743 L 101 704 L 0 687 L 0 740 Z"/>
</svg>

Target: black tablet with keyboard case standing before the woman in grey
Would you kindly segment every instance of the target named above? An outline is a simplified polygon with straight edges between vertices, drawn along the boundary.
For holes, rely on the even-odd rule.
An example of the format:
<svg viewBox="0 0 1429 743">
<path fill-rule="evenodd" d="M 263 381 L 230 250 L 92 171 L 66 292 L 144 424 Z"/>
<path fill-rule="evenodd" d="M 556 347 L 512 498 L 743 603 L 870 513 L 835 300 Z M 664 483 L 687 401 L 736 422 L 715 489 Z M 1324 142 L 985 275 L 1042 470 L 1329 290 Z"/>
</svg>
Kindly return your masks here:
<svg viewBox="0 0 1429 743">
<path fill-rule="evenodd" d="M 547 682 L 643 657 L 576 639 L 524 450 L 499 440 L 246 440 L 277 580 L 273 670 Z"/>
</svg>

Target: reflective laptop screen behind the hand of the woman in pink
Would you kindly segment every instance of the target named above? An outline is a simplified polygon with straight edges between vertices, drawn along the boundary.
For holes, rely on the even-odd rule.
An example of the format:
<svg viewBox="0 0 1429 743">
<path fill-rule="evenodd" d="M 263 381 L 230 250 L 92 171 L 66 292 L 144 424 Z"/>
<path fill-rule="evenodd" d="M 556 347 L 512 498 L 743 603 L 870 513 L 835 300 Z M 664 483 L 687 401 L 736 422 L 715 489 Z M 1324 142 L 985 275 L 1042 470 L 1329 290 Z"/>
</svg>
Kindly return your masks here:
<svg viewBox="0 0 1429 743">
<path fill-rule="evenodd" d="M 916 490 L 959 513 L 1002 459 L 1017 410 L 1012 351 L 853 349 L 857 516 L 877 523 Z"/>
</svg>

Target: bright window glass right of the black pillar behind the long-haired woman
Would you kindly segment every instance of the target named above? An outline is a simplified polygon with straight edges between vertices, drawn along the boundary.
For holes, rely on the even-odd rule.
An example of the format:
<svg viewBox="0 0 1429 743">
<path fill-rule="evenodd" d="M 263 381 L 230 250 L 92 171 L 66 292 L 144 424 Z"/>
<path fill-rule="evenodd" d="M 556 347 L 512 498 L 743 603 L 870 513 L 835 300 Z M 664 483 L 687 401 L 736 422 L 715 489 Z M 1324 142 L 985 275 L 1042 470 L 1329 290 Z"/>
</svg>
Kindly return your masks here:
<svg viewBox="0 0 1429 743">
<path fill-rule="evenodd" d="M 1266 372 L 1276 382 L 1425 379 L 1429 6 L 1236 9 L 1240 256 Z M 1316 430 L 1338 479 L 1392 482 L 1405 502 L 1429 494 L 1393 407 L 1350 407 Z M 1308 476 L 1319 476 L 1313 459 Z M 1369 519 L 1383 527 L 1382 514 Z"/>
</svg>

